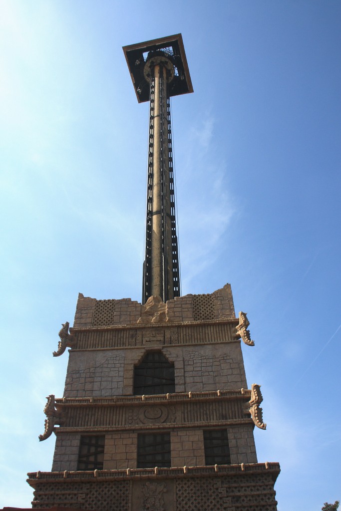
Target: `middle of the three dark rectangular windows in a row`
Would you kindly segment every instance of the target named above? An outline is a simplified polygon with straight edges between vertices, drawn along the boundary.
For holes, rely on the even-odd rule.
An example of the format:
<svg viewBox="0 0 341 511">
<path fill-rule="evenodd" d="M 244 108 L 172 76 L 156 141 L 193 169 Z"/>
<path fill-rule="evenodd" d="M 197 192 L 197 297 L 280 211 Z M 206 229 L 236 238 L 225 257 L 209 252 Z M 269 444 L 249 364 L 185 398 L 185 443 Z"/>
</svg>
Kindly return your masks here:
<svg viewBox="0 0 341 511">
<path fill-rule="evenodd" d="M 138 469 L 170 466 L 170 433 L 138 435 Z"/>
</svg>

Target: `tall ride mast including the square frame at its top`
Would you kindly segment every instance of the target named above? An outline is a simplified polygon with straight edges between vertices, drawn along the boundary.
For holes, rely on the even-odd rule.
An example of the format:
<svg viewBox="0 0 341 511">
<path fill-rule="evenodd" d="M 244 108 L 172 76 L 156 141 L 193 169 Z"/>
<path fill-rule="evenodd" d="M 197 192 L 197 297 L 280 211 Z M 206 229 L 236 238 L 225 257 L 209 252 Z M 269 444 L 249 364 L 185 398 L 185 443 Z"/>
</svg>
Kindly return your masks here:
<svg viewBox="0 0 341 511">
<path fill-rule="evenodd" d="M 123 48 L 139 103 L 150 102 L 142 303 L 180 296 L 170 97 L 193 92 L 181 34 Z"/>
</svg>

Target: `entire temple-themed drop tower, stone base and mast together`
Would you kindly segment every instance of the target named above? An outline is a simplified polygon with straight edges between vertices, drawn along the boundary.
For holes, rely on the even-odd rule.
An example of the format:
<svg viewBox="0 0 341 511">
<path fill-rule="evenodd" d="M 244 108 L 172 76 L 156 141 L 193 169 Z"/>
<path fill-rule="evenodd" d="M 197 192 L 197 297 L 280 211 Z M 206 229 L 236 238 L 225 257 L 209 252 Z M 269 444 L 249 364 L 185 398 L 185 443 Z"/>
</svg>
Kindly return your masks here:
<svg viewBox="0 0 341 511">
<path fill-rule="evenodd" d="M 150 100 L 142 303 L 80 294 L 70 333 L 63 324 L 64 396 L 48 398 L 39 436 L 56 435 L 52 472 L 28 474 L 32 505 L 276 511 L 279 464 L 255 449 L 265 424 L 260 386 L 246 383 L 246 315 L 229 284 L 180 296 L 169 98 L 192 91 L 183 41 L 124 53 L 139 102 Z"/>
</svg>

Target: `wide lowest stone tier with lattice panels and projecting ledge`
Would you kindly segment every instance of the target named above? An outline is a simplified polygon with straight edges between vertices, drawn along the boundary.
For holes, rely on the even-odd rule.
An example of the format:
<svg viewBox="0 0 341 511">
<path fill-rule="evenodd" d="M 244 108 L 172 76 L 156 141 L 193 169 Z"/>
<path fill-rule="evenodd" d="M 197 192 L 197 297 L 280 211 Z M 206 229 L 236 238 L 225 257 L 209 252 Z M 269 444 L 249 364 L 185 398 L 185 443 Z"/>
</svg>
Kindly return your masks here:
<svg viewBox="0 0 341 511">
<path fill-rule="evenodd" d="M 33 508 L 53 504 L 101 511 L 276 511 L 279 463 L 169 469 L 33 472 Z M 152 505 L 154 503 L 154 505 Z M 156 507 L 157 503 L 158 507 Z"/>
</svg>

